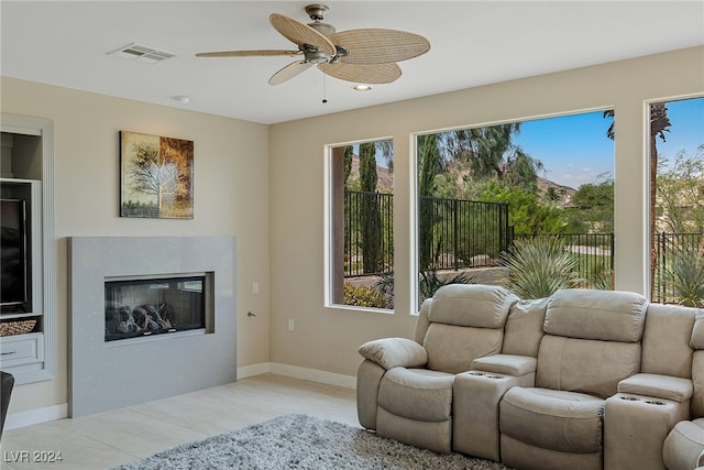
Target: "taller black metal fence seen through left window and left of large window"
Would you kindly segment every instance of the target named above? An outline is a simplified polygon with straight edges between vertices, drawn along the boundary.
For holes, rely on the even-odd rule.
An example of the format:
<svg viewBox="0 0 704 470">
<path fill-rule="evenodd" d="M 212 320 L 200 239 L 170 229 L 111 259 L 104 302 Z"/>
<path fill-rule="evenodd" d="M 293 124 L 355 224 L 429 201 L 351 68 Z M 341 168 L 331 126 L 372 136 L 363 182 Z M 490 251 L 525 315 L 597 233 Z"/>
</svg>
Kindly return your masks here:
<svg viewBox="0 0 704 470">
<path fill-rule="evenodd" d="M 422 197 L 418 209 L 424 270 L 496 265 L 510 242 L 507 204 Z M 344 192 L 345 277 L 393 271 L 393 195 Z"/>
</svg>

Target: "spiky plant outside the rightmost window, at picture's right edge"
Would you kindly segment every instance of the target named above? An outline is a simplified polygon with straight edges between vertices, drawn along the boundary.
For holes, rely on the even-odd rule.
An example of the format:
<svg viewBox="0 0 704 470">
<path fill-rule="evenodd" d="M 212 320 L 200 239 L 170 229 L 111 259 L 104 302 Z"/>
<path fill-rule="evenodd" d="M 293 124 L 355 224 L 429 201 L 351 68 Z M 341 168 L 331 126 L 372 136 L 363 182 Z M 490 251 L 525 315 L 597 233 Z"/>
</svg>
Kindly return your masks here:
<svg viewBox="0 0 704 470">
<path fill-rule="evenodd" d="M 674 250 L 664 278 L 680 305 L 704 307 L 704 256 L 686 248 Z"/>
</svg>

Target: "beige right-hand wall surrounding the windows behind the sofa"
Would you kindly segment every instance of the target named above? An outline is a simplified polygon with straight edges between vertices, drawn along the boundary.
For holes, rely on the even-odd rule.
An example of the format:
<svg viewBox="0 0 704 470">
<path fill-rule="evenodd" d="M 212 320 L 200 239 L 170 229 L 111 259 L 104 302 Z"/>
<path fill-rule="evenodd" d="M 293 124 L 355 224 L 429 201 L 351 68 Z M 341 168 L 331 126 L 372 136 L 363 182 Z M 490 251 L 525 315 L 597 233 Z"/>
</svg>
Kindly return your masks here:
<svg viewBox="0 0 704 470">
<path fill-rule="evenodd" d="M 646 101 L 695 94 L 704 95 L 704 47 L 272 125 L 271 361 L 354 375 L 359 345 L 413 334 L 409 141 L 419 131 L 615 108 L 616 287 L 645 293 Z M 323 146 L 381 136 L 395 144 L 396 311 L 326 308 Z M 287 318 L 295 318 L 295 331 Z"/>
</svg>

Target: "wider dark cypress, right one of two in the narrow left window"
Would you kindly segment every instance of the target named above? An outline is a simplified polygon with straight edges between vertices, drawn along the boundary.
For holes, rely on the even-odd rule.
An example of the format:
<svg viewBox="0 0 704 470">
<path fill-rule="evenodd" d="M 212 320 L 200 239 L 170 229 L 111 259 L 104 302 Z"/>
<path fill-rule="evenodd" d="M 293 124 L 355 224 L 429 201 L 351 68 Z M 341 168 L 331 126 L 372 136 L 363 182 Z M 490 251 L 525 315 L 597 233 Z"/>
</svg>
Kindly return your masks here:
<svg viewBox="0 0 704 470">
<path fill-rule="evenodd" d="M 380 271 L 382 262 L 382 215 L 376 199 L 376 145 L 360 144 L 360 184 L 366 193 L 362 204 L 362 255 L 365 273 Z"/>
</svg>

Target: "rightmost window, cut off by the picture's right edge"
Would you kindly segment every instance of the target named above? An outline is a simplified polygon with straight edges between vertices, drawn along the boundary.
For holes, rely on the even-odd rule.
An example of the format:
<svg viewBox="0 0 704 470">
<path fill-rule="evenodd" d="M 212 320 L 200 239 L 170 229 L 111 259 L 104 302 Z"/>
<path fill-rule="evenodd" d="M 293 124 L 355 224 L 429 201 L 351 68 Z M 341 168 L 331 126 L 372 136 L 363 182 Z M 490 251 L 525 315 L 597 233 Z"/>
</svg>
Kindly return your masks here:
<svg viewBox="0 0 704 470">
<path fill-rule="evenodd" d="M 704 307 L 704 98 L 649 110 L 651 297 Z"/>
</svg>

